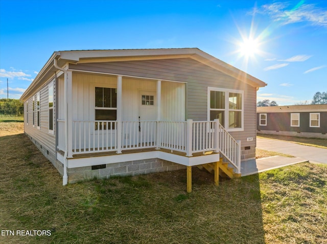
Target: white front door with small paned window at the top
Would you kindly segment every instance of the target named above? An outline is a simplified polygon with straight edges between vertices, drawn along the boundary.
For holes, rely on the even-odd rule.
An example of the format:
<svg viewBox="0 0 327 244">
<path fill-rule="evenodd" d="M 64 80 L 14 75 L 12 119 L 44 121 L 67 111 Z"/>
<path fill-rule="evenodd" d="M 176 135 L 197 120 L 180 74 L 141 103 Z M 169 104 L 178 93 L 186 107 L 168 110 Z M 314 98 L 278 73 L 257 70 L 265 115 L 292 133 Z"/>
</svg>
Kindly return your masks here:
<svg viewBox="0 0 327 244">
<path fill-rule="evenodd" d="M 156 91 L 139 91 L 138 93 L 138 143 L 151 146 L 156 133 L 157 104 Z"/>
</svg>

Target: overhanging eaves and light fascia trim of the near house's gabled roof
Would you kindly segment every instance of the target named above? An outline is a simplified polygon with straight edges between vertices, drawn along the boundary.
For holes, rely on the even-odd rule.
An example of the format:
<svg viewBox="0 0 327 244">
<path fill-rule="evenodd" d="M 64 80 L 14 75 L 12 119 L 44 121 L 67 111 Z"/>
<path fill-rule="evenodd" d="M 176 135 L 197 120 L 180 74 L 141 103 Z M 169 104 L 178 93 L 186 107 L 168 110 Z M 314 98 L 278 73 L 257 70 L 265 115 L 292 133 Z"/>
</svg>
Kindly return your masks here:
<svg viewBox="0 0 327 244">
<path fill-rule="evenodd" d="M 267 84 L 244 71 L 241 71 L 198 48 L 165 48 L 165 49 L 119 49 L 119 50 L 70 50 L 55 51 L 46 62 L 20 100 L 25 101 L 35 90 L 42 86 L 54 72 L 54 59 L 60 67 L 67 63 L 96 63 L 117 61 L 158 60 L 173 58 L 191 58 L 220 72 L 228 74 L 252 87 L 264 87 Z M 154 77 L 155 78 L 155 77 Z"/>
</svg>

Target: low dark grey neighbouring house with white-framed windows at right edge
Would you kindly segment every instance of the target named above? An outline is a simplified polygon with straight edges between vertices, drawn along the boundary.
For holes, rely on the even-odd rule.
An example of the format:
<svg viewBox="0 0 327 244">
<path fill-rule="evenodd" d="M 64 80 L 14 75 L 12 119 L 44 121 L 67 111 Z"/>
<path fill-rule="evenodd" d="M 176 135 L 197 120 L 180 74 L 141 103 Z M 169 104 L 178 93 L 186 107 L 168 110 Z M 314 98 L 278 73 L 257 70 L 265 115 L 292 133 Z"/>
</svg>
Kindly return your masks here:
<svg viewBox="0 0 327 244">
<path fill-rule="evenodd" d="M 327 104 L 258 107 L 258 133 L 327 139 Z"/>
</svg>

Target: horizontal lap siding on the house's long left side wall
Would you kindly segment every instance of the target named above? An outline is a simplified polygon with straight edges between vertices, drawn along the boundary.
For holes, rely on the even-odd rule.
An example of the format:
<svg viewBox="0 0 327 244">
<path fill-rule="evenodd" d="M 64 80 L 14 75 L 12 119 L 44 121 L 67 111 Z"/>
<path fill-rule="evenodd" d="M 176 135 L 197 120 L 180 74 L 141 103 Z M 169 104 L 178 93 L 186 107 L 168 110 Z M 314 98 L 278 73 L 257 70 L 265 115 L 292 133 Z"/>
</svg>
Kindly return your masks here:
<svg viewBox="0 0 327 244">
<path fill-rule="evenodd" d="M 46 158 L 51 162 L 56 160 L 56 138 L 54 134 L 49 133 L 49 83 L 54 82 L 54 78 L 48 80 L 48 82 L 37 92 L 40 92 L 40 128 L 37 128 L 37 112 L 35 105 L 35 118 L 33 118 L 33 94 L 32 97 L 28 99 L 29 102 L 29 124 L 24 124 L 24 131 L 32 140 L 32 142 L 40 149 Z M 55 86 L 54 86 L 55 87 Z M 56 103 L 56 90 L 54 89 L 54 102 Z M 25 101 L 26 104 L 26 101 Z M 35 98 L 36 104 L 36 98 Z M 27 111 L 24 111 L 24 117 L 27 116 Z M 33 127 L 33 119 L 35 120 L 35 127 Z M 55 113 L 54 113 L 54 121 Z M 54 123 L 54 130 L 55 130 Z"/>
</svg>

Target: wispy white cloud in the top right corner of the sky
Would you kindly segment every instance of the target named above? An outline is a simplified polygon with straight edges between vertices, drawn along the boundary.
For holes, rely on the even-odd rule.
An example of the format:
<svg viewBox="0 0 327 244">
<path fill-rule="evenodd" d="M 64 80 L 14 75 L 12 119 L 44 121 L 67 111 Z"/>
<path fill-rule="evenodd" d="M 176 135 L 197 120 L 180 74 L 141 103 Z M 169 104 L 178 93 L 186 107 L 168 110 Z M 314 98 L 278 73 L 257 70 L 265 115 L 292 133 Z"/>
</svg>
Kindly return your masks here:
<svg viewBox="0 0 327 244">
<path fill-rule="evenodd" d="M 301 1 L 295 7 L 286 3 L 276 2 L 266 4 L 255 12 L 268 14 L 274 21 L 280 21 L 282 24 L 296 22 L 308 22 L 312 25 L 327 27 L 327 9 L 316 7 L 315 4 L 303 4 Z"/>
</svg>

